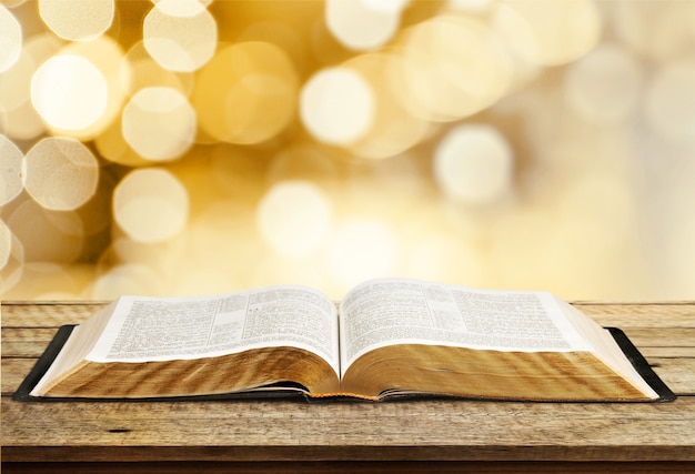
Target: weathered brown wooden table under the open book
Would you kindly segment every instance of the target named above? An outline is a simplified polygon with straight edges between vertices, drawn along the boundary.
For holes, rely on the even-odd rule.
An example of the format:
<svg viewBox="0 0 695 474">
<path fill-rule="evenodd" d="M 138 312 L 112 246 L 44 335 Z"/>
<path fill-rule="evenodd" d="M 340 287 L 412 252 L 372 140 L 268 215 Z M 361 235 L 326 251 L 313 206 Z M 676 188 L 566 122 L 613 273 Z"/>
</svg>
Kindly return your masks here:
<svg viewBox="0 0 695 474">
<path fill-rule="evenodd" d="M 3 472 L 695 472 L 695 302 L 576 303 L 627 333 L 673 403 L 12 401 L 57 327 L 100 305 L 2 303 Z"/>
</svg>

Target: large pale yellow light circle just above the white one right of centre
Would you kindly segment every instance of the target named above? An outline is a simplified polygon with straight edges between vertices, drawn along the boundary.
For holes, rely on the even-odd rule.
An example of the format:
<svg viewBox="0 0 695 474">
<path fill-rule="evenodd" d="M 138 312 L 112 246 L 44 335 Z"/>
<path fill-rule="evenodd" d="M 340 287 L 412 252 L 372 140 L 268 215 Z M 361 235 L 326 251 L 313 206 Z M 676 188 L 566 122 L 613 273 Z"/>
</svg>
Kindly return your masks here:
<svg viewBox="0 0 695 474">
<path fill-rule="evenodd" d="M 424 120 L 454 121 L 500 100 L 512 69 L 488 26 L 473 17 L 443 14 L 403 37 L 401 64 L 390 80 L 404 108 Z"/>
</svg>

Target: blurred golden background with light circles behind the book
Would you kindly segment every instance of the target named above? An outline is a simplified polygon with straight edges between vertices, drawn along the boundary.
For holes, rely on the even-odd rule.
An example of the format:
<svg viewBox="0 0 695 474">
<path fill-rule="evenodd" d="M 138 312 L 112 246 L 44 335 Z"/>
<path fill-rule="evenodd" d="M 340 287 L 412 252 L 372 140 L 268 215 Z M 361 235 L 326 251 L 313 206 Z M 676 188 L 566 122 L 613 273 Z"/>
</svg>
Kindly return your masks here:
<svg viewBox="0 0 695 474">
<path fill-rule="evenodd" d="M 695 1 L 0 0 L 3 299 L 695 295 Z"/>
</svg>

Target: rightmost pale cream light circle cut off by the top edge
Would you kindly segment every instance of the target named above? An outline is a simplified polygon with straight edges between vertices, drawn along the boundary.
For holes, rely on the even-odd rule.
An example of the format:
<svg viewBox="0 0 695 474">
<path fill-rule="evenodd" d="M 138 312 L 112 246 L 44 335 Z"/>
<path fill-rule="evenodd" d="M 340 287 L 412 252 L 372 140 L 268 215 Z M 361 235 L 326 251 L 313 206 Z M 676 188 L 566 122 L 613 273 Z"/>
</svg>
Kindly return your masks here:
<svg viewBox="0 0 695 474">
<path fill-rule="evenodd" d="M 520 59 L 545 67 L 576 60 L 601 37 L 592 0 L 506 0 L 495 7 L 494 24 Z"/>
</svg>

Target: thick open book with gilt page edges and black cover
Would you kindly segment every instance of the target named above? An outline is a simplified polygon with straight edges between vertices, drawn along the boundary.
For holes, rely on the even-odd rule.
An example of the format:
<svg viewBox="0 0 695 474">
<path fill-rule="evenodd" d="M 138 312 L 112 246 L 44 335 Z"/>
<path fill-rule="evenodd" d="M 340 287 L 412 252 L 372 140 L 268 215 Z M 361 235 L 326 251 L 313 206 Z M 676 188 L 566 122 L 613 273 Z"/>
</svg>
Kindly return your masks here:
<svg viewBox="0 0 695 474">
<path fill-rule="evenodd" d="M 338 309 L 291 285 L 124 296 L 70 330 L 26 381 L 29 399 L 674 397 L 622 332 L 641 364 L 612 332 L 544 292 L 382 279 L 354 288 Z"/>
</svg>

